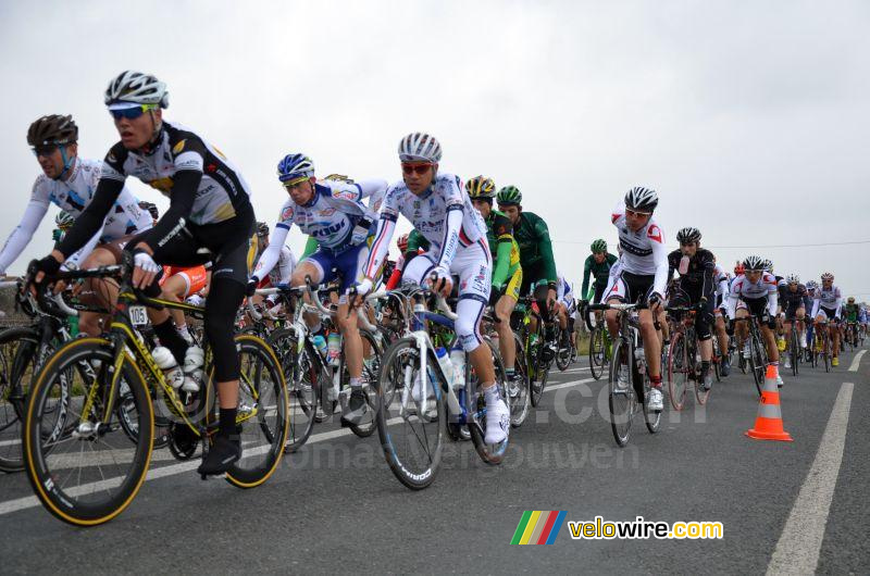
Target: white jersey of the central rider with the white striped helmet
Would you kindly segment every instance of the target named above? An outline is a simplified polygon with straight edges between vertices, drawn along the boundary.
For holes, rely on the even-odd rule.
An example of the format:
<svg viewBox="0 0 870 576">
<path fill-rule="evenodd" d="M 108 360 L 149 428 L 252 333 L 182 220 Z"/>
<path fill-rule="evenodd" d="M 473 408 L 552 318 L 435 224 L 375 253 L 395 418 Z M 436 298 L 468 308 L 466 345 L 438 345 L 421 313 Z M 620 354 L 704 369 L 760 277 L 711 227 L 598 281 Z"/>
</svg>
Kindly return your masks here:
<svg viewBox="0 0 870 576">
<path fill-rule="evenodd" d="M 365 275 L 370 278 L 384 262 L 399 214 L 428 240 L 428 252 L 435 258 L 435 265 L 443 270 L 450 270 L 453 258 L 474 245 L 481 245 L 489 253 L 486 224 L 471 204 L 461 180 L 452 174 L 438 173 L 420 197 L 414 196 L 405 181 L 387 188 L 372 253 L 365 266 Z"/>
</svg>

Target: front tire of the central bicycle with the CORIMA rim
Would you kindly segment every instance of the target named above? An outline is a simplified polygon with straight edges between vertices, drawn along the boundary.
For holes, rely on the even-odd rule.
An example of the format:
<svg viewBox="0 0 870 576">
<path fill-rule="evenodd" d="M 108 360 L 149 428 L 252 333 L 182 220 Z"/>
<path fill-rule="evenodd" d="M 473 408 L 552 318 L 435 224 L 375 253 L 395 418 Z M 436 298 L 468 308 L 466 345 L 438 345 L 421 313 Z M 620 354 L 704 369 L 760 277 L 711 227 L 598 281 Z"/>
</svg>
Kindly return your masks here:
<svg viewBox="0 0 870 576">
<path fill-rule="evenodd" d="M 406 368 L 410 370 L 410 373 L 408 373 Z M 422 490 L 428 487 L 435 479 L 442 461 L 442 430 L 445 428 L 440 424 L 445 420 L 445 406 L 442 398 L 442 390 L 437 386 L 433 389 L 433 393 L 435 395 L 434 418 L 427 414 L 425 416 L 427 422 L 425 422 L 415 412 L 401 412 L 401 410 L 403 410 L 401 401 L 405 396 L 405 386 L 406 384 L 413 384 L 414 372 L 417 371 L 419 373 L 419 370 L 420 352 L 417 349 L 417 341 L 411 337 L 400 338 L 384 351 L 384 356 L 381 362 L 381 373 L 376 381 L 377 436 L 381 440 L 381 447 L 384 450 L 384 458 L 393 475 L 396 476 L 403 486 L 412 490 Z M 405 381 L 406 376 L 410 377 L 409 383 Z M 410 390 L 408 390 L 407 396 L 408 400 L 413 402 L 410 398 Z M 395 417 L 400 418 L 402 422 L 391 422 L 390 410 L 396 411 L 397 414 Z M 434 424 L 434 426 L 430 427 L 434 447 L 425 446 L 425 450 L 423 450 L 424 458 L 421 459 L 423 464 L 419 466 L 419 469 L 410 469 L 410 466 L 413 465 L 409 462 L 411 456 L 399 453 L 401 442 L 397 441 L 398 434 L 396 430 L 391 431 L 389 428 L 393 424 L 407 424 L 410 426 L 414 418 L 421 423 L 419 428 L 424 433 L 425 424 Z M 421 438 L 421 436 L 417 434 L 414 437 L 418 439 Z M 423 434 L 423 437 L 426 441 L 430 439 L 430 435 Z"/>
</svg>

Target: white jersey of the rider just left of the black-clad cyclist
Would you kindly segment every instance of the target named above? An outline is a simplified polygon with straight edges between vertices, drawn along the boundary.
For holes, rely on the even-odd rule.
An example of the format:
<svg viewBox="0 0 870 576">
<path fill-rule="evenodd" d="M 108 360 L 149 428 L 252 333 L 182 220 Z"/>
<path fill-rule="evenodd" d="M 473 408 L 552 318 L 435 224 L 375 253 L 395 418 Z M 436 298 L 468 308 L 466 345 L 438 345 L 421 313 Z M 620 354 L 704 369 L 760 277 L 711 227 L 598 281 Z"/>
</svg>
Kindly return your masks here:
<svg viewBox="0 0 870 576">
<path fill-rule="evenodd" d="M 619 230 L 620 270 L 639 276 L 652 276 L 652 290 L 664 296 L 668 284 L 668 249 L 664 247 L 664 231 L 654 217 L 646 226 L 632 231 L 625 222 L 625 204 L 620 202 L 610 214 L 613 226 Z M 612 272 L 611 272 L 612 274 Z"/>
</svg>

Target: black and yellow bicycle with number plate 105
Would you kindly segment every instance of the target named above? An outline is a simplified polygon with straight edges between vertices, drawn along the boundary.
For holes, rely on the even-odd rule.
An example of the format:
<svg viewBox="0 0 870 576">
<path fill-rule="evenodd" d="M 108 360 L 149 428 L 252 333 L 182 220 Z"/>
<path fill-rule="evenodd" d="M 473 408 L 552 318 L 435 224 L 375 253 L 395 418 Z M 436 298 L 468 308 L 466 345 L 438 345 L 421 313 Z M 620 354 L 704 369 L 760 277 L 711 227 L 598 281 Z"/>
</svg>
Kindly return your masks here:
<svg viewBox="0 0 870 576">
<path fill-rule="evenodd" d="M 173 415 L 169 428 L 173 454 L 192 454 L 200 442 L 204 458 L 217 430 L 210 347 L 204 351 L 200 390 L 176 391 L 139 331 L 139 326 L 148 324 L 146 305 L 183 310 L 195 316 L 202 315 L 204 309 L 135 293 L 132 271 L 132 256 L 125 253 L 120 265 L 62 272 L 53 278 L 113 277 L 120 283 L 109 334 L 69 341 L 47 360 L 32 387 L 24 424 L 25 467 L 37 498 L 52 515 L 77 526 L 112 519 L 130 504 L 145 481 L 153 449 L 150 388 L 163 395 Z M 236 424 L 245 452 L 225 479 L 239 488 L 253 488 L 264 483 L 281 462 L 288 426 L 287 388 L 269 345 L 252 335 L 237 335 L 235 341 L 241 365 Z M 65 437 L 46 437 L 45 425 L 52 422 L 52 400 L 62 393 L 65 376 L 83 364 L 94 368 L 94 376 L 86 374 L 80 381 L 67 385 L 72 390 L 69 417 L 74 430 Z M 123 405 L 135 436 L 123 431 L 124 424 L 116 415 L 122 380 L 129 389 L 128 401 Z"/>
</svg>

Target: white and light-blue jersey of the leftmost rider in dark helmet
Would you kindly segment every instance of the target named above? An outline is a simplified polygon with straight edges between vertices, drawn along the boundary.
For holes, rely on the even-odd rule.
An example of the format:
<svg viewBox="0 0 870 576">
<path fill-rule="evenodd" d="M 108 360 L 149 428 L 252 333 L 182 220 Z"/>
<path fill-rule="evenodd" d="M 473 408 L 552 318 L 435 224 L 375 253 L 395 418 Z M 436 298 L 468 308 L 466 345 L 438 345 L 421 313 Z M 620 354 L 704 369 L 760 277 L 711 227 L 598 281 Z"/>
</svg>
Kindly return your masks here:
<svg viewBox="0 0 870 576">
<path fill-rule="evenodd" d="M 24 215 L 0 252 L 0 274 L 5 274 L 7 268 L 27 248 L 39 223 L 48 212 L 49 204 L 59 206 L 74 218 L 85 211 L 85 208 L 94 199 L 101 171 L 101 161 L 77 158 L 66 180 L 52 180 L 45 174 L 40 174 L 36 178 Z M 66 259 L 66 263 L 78 266 L 98 242 L 117 240 L 150 227 L 151 216 L 139 208 L 136 197 L 127 188 L 124 188 L 114 206 L 103 220 L 102 228 L 87 245 Z"/>
</svg>

